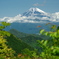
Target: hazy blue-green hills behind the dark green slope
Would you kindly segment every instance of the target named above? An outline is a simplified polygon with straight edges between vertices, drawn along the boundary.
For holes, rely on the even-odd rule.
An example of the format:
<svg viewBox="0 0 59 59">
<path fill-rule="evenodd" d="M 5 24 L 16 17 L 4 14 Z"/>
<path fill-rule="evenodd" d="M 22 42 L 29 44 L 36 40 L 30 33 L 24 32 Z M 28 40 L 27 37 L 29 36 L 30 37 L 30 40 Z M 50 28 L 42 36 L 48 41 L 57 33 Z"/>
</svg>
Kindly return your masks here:
<svg viewBox="0 0 59 59">
<path fill-rule="evenodd" d="M 42 38 L 40 38 L 39 35 L 21 33 L 15 29 L 11 29 L 9 32 L 15 35 L 16 37 L 21 38 L 23 42 L 29 44 L 30 46 L 34 48 L 37 47 L 37 40 L 42 40 Z"/>
</svg>

